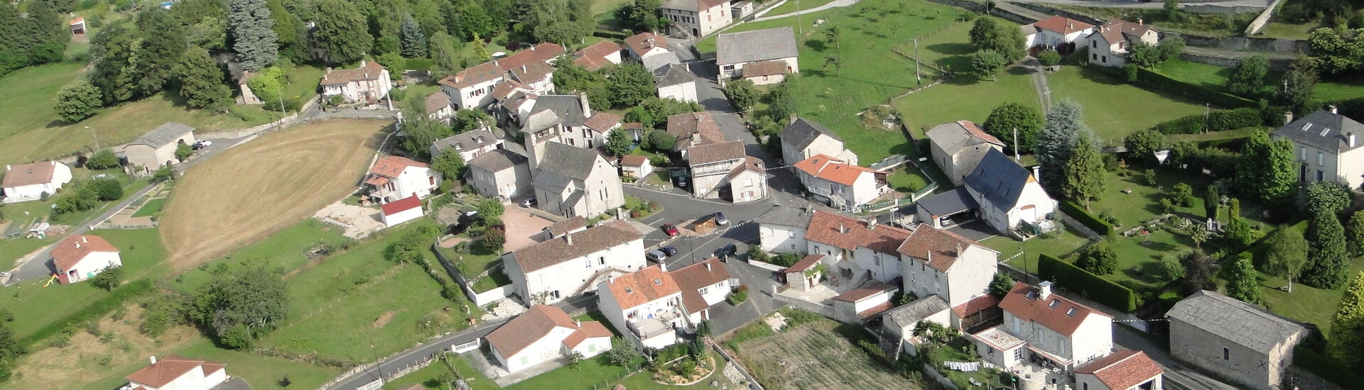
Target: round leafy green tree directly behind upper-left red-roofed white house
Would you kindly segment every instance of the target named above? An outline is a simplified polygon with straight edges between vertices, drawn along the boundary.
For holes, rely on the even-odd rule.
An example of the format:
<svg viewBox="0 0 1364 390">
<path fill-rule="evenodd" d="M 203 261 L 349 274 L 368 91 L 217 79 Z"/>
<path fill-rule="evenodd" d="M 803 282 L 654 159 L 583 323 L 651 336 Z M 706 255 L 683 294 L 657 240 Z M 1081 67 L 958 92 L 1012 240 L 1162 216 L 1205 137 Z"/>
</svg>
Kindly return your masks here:
<svg viewBox="0 0 1364 390">
<path fill-rule="evenodd" d="M 312 37 L 318 48 L 327 53 L 327 59 L 337 63 L 359 61 L 364 52 L 374 44 L 366 26 L 364 15 L 342 0 L 318 0 L 316 3 L 316 30 Z"/>
</svg>

